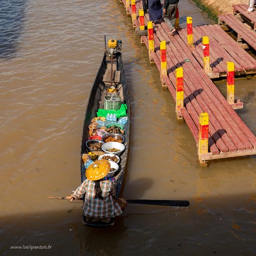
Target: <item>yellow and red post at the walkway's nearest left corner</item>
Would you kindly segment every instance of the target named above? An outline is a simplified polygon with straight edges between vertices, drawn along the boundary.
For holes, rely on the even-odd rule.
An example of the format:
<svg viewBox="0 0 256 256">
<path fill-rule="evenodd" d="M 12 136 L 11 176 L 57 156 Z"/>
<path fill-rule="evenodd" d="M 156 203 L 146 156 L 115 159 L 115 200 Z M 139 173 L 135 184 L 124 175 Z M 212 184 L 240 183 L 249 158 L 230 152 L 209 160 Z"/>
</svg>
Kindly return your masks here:
<svg viewBox="0 0 256 256">
<path fill-rule="evenodd" d="M 208 153 L 209 138 L 209 115 L 202 113 L 199 115 L 199 141 L 198 141 L 198 159 L 202 167 L 207 166 L 207 162 L 201 161 L 201 155 Z"/>
</svg>

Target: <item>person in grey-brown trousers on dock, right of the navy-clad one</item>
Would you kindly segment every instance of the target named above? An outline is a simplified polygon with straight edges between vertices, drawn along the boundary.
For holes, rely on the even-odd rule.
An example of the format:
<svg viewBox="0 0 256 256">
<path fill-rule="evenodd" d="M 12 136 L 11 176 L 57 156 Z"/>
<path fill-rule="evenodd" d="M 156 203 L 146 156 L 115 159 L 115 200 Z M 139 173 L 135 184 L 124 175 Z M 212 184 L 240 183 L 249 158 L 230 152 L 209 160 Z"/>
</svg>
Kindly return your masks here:
<svg viewBox="0 0 256 256">
<path fill-rule="evenodd" d="M 163 9 L 163 19 L 171 29 L 171 35 L 176 31 L 175 18 L 179 0 L 165 0 Z"/>
</svg>

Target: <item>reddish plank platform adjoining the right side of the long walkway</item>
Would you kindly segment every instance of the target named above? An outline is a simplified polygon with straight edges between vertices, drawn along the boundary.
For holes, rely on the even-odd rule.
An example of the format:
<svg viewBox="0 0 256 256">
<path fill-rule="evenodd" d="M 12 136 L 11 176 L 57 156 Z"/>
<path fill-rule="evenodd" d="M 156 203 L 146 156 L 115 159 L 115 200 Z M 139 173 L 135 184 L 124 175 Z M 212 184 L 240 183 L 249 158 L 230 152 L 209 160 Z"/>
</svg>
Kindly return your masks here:
<svg viewBox="0 0 256 256">
<path fill-rule="evenodd" d="M 187 42 L 187 28 L 179 31 L 180 37 Z M 213 78 L 226 76 L 226 62 L 235 63 L 235 75 L 255 74 L 256 60 L 251 57 L 242 47 L 240 47 L 230 36 L 218 25 L 205 25 L 193 27 L 193 37 L 195 48 L 191 48 L 201 67 L 203 63 L 202 36 L 209 37 L 210 43 L 210 66 Z"/>
</svg>

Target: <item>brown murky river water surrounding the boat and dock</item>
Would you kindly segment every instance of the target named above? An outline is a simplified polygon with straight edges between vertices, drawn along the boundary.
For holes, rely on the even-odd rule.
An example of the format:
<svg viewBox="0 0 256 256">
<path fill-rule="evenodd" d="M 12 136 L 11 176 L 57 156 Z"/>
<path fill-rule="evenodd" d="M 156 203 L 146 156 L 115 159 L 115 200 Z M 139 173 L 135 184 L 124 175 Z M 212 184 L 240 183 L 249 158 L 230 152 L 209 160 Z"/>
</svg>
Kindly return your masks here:
<svg viewBox="0 0 256 256">
<path fill-rule="evenodd" d="M 123 4 L 3 0 L 0 6 L 1 255 L 254 255 L 256 158 L 197 163 L 196 142 L 135 36 Z M 181 25 L 209 23 L 180 1 Z M 81 203 L 50 201 L 80 182 L 88 93 L 107 39 L 123 40 L 132 132 L 124 198 L 186 199 L 189 209 L 128 205 L 115 226 L 82 226 Z M 255 79 L 237 81 L 256 132 Z M 225 83 L 218 83 L 225 93 Z M 11 249 L 10 246 L 52 246 Z"/>
</svg>

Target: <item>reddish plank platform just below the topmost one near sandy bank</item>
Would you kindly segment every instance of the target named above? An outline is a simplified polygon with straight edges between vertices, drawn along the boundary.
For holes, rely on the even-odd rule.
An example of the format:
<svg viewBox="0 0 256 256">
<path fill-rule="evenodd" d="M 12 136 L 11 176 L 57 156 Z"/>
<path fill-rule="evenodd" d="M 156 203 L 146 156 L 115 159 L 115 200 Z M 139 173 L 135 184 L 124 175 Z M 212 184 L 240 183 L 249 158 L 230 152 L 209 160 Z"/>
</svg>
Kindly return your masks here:
<svg viewBox="0 0 256 256">
<path fill-rule="evenodd" d="M 250 46 L 256 50 L 256 33 L 251 30 L 249 27 L 244 25 L 240 20 L 238 20 L 234 15 L 220 15 L 219 16 L 219 25 L 225 23 L 227 26 L 232 28 L 237 33 L 237 42 L 241 42 L 244 40 Z"/>
</svg>

